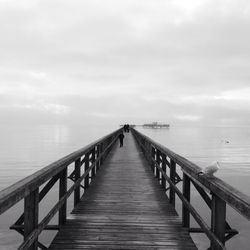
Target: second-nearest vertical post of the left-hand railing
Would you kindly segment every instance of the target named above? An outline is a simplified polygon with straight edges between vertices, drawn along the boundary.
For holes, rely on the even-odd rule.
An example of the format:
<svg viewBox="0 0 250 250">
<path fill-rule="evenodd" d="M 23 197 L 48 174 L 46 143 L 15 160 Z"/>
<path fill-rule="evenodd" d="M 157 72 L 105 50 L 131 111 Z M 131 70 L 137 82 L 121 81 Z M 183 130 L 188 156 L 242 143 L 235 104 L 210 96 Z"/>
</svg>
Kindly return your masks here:
<svg viewBox="0 0 250 250">
<path fill-rule="evenodd" d="M 66 194 L 67 192 L 67 167 L 63 169 L 60 173 L 59 178 L 59 200 Z M 65 200 L 62 207 L 59 209 L 59 226 L 64 225 L 66 223 L 67 217 L 67 200 Z"/>
</svg>

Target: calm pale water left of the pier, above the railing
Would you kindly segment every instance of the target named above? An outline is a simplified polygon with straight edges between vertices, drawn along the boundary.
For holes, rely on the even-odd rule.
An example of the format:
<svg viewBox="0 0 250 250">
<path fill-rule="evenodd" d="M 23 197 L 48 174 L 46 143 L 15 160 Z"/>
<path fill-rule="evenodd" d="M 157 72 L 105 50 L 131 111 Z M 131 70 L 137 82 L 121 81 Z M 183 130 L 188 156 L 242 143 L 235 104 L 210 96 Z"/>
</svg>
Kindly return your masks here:
<svg viewBox="0 0 250 250">
<path fill-rule="evenodd" d="M 0 189 L 116 128 L 68 125 L 0 126 Z"/>
</svg>

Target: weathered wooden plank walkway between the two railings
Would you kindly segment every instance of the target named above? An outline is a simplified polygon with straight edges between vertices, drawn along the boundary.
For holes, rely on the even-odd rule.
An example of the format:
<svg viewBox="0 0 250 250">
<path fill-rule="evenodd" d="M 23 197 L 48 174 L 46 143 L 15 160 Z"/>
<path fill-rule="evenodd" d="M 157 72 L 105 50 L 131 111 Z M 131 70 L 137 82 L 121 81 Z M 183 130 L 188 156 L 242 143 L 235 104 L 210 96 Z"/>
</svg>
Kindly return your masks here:
<svg viewBox="0 0 250 250">
<path fill-rule="evenodd" d="M 148 163 L 125 134 L 50 249 L 197 249 Z"/>
</svg>

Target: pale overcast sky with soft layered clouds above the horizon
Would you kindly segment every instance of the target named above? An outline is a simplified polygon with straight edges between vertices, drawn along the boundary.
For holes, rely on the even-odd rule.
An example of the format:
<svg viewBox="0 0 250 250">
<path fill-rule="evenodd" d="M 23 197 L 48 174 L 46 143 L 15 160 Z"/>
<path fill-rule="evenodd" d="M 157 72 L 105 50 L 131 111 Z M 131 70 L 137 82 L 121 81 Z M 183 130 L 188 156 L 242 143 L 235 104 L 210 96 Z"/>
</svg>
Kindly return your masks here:
<svg viewBox="0 0 250 250">
<path fill-rule="evenodd" d="M 0 117 L 250 125 L 250 2 L 0 0 Z"/>
</svg>

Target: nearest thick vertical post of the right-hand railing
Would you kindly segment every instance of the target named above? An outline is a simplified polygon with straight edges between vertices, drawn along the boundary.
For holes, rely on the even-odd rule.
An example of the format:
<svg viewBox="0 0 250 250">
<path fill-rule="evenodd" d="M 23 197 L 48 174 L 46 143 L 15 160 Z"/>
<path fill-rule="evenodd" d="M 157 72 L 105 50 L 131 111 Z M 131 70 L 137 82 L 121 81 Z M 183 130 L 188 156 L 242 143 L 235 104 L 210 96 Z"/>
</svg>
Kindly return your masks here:
<svg viewBox="0 0 250 250">
<path fill-rule="evenodd" d="M 212 216 L 211 229 L 223 245 L 225 245 L 226 227 L 226 202 L 215 194 L 212 194 Z M 212 250 L 220 250 L 215 244 L 211 243 Z"/>
</svg>

